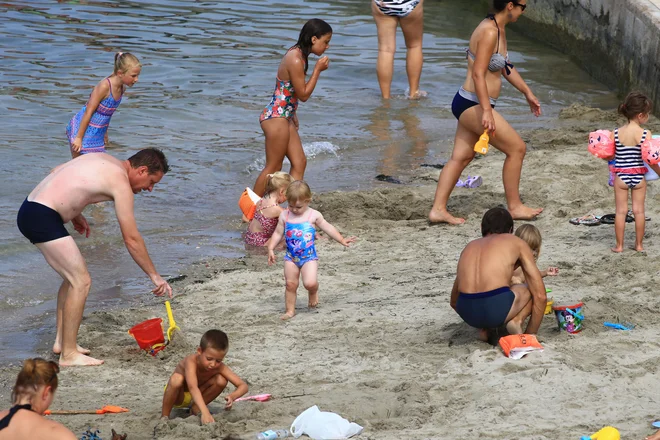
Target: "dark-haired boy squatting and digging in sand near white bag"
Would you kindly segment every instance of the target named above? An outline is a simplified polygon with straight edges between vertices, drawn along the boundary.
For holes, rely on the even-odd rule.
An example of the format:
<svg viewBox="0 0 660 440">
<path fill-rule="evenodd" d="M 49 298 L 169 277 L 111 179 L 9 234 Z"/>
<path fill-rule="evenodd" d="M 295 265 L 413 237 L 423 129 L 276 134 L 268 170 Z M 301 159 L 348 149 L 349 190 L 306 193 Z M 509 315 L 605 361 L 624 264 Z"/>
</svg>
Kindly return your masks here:
<svg viewBox="0 0 660 440">
<path fill-rule="evenodd" d="M 176 366 L 174 373 L 165 386 L 161 418 L 169 418 L 172 407 L 190 407 L 193 415 L 201 414 L 202 424 L 215 420 L 208 407 L 231 382 L 236 387 L 233 393 L 225 397 L 225 409 L 229 410 L 242 395 L 248 392 L 248 386 L 222 360 L 227 355 L 229 339 L 221 330 L 209 330 L 202 336 L 197 352 L 186 356 Z"/>
</svg>

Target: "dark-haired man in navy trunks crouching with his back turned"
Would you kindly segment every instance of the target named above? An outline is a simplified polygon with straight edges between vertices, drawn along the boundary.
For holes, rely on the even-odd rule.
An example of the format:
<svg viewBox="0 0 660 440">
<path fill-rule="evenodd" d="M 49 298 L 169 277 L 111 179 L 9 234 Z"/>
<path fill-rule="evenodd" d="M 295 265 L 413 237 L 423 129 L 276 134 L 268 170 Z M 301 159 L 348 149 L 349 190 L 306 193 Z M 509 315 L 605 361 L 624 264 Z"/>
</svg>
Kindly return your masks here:
<svg viewBox="0 0 660 440">
<path fill-rule="evenodd" d="M 483 238 L 471 241 L 458 260 L 451 306 L 463 320 L 480 329 L 488 340 L 490 331 L 506 325 L 510 334 L 534 334 L 541 326 L 546 293 L 541 273 L 527 243 L 513 235 L 513 219 L 503 208 L 493 208 L 481 221 Z M 513 271 L 521 267 L 527 285 L 510 286 Z"/>
</svg>

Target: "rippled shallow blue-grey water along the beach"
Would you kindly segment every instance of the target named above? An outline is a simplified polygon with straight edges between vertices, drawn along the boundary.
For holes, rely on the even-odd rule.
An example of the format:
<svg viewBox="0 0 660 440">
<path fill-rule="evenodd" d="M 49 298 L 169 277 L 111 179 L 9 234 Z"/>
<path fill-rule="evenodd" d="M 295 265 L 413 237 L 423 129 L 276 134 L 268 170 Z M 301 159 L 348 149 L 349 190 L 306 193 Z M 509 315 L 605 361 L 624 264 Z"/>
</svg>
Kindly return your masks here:
<svg viewBox="0 0 660 440">
<path fill-rule="evenodd" d="M 69 158 L 66 124 L 111 73 L 117 50 L 133 52 L 144 67 L 112 119 L 110 153 L 126 158 L 150 146 L 166 152 L 172 171 L 153 193 L 137 197 L 136 216 L 156 267 L 173 276 L 199 259 L 244 253 L 236 200 L 264 163 L 258 117 L 282 54 L 308 18 L 324 18 L 335 31 L 330 68 L 299 107 L 312 189 L 382 185 L 377 174 L 405 180 L 419 164 L 446 159 L 455 129 L 451 99 L 465 75 L 463 49 L 481 19 L 463 5 L 425 4 L 424 100 L 404 99 L 399 33 L 396 96 L 384 105 L 367 0 L 0 4 L 0 360 L 34 354 L 53 337 L 59 277 L 20 235 L 16 212 L 36 183 Z M 524 98 L 505 86 L 498 110 L 516 127 L 552 124 L 559 108 L 573 102 L 616 104 L 613 93 L 563 54 L 515 28 L 508 38 L 511 58 L 544 110 L 533 118 Z M 87 310 L 157 301 L 123 246 L 111 204 L 86 216 L 92 236 L 76 240 L 94 282 Z"/>
</svg>

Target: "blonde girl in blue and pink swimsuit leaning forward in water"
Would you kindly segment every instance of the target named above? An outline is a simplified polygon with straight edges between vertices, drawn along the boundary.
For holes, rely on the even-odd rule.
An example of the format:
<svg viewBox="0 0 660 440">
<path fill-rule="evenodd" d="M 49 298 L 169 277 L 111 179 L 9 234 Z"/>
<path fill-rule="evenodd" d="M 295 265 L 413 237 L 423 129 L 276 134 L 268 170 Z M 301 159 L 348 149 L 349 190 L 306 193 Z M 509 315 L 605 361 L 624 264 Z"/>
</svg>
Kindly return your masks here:
<svg viewBox="0 0 660 440">
<path fill-rule="evenodd" d="M 137 57 L 128 52 L 117 52 L 112 75 L 99 81 L 87 103 L 66 127 L 72 157 L 105 153 L 110 118 L 119 107 L 126 87 L 132 87 L 138 81 L 141 70 Z"/>
</svg>

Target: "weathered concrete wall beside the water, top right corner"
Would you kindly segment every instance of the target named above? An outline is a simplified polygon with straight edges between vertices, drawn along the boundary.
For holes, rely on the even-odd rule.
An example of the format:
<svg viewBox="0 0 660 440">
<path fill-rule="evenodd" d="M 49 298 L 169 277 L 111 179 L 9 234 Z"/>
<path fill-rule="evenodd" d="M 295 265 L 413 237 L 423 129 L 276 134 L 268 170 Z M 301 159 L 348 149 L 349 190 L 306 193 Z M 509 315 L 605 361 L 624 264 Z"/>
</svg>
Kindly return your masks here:
<svg viewBox="0 0 660 440">
<path fill-rule="evenodd" d="M 527 3 L 517 31 L 570 55 L 621 95 L 646 93 L 660 111 L 660 0 Z"/>
</svg>

